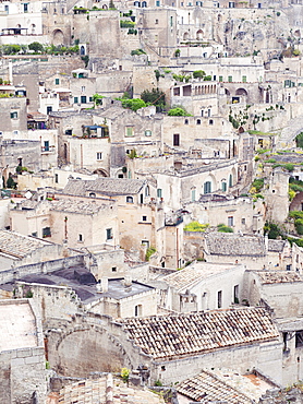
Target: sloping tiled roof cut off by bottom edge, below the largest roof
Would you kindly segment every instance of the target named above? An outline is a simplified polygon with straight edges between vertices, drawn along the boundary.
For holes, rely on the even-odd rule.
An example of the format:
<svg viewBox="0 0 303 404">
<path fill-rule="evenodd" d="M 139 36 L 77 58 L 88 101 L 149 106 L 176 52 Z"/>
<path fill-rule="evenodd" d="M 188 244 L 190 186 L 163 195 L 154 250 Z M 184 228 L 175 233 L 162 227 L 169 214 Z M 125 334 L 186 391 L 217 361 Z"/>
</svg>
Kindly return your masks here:
<svg viewBox="0 0 303 404">
<path fill-rule="evenodd" d="M 213 372 L 202 371 L 198 376 L 183 381 L 177 387 L 178 393 L 199 403 L 222 401 L 228 404 L 252 404 L 246 395 L 225 383 Z"/>
</svg>

